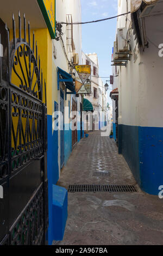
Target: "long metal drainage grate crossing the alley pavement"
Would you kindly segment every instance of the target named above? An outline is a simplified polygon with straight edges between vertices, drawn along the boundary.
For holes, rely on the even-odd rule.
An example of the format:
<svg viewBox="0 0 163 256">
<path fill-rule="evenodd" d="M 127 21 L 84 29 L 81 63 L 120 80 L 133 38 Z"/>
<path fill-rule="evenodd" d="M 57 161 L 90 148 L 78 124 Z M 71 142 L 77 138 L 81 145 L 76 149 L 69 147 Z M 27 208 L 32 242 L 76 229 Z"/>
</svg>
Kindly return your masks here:
<svg viewBox="0 0 163 256">
<path fill-rule="evenodd" d="M 70 185 L 68 192 L 137 192 L 133 185 Z"/>
</svg>

